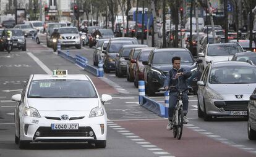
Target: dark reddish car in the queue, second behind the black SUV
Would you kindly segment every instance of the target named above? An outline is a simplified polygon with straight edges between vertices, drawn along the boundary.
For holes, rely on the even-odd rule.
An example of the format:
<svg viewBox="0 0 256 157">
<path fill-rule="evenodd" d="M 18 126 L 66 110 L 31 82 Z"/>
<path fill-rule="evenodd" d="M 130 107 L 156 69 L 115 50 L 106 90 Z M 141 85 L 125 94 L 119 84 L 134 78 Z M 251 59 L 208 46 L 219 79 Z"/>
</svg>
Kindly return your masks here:
<svg viewBox="0 0 256 157">
<path fill-rule="evenodd" d="M 127 72 L 126 72 L 126 79 L 127 81 L 134 82 L 134 69 L 136 66 L 136 59 L 137 56 L 140 53 L 140 50 L 142 49 L 148 49 L 148 46 L 146 47 L 136 47 L 130 50 L 130 54 L 128 57 L 124 57 L 125 60 L 127 60 Z"/>
</svg>

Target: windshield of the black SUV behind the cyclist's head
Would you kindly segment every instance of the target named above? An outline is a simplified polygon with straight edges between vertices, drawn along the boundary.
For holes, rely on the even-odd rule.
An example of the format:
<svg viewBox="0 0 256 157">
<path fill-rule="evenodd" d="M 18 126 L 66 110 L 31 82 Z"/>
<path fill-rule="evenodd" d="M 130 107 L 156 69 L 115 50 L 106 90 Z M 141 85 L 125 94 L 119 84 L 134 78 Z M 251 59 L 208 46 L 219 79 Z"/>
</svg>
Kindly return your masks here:
<svg viewBox="0 0 256 157">
<path fill-rule="evenodd" d="M 156 52 L 153 56 L 152 64 L 170 64 L 171 59 L 175 56 L 181 57 L 181 63 L 193 64 L 193 58 L 188 51 L 164 51 Z"/>
</svg>

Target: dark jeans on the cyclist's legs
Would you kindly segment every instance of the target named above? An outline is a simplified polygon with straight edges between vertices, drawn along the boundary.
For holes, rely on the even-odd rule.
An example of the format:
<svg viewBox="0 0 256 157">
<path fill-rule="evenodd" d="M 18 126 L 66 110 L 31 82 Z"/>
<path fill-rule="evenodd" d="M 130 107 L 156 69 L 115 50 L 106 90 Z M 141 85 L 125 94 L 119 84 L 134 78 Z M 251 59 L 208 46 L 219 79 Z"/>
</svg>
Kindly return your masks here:
<svg viewBox="0 0 256 157">
<path fill-rule="evenodd" d="M 187 113 L 187 108 L 189 107 L 189 97 L 187 96 L 187 92 L 183 95 L 183 113 Z M 173 119 L 174 110 L 177 105 L 177 92 L 169 93 L 169 119 Z"/>
</svg>

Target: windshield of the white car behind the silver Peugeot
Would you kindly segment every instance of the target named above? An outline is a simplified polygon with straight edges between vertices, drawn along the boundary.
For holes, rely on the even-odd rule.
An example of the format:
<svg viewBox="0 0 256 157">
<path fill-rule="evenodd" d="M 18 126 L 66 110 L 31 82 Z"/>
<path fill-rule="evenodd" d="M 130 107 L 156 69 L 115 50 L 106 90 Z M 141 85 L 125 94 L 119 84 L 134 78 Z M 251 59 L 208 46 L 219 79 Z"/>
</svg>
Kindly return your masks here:
<svg viewBox="0 0 256 157">
<path fill-rule="evenodd" d="M 214 45 L 209 46 L 207 50 L 207 55 L 209 56 L 218 56 L 218 55 L 234 55 L 238 52 L 243 52 L 241 47 L 237 44 L 232 45 Z"/>
</svg>

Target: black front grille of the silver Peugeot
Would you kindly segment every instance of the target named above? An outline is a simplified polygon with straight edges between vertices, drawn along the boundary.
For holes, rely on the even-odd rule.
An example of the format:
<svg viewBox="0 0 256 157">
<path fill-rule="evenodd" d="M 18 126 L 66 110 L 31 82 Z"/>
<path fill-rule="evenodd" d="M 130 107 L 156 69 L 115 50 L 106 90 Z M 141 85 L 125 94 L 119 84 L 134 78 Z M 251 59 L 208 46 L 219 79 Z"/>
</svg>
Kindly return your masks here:
<svg viewBox="0 0 256 157">
<path fill-rule="evenodd" d="M 247 110 L 248 104 L 249 101 L 225 101 L 223 108 L 225 111 L 244 111 Z"/>
</svg>

